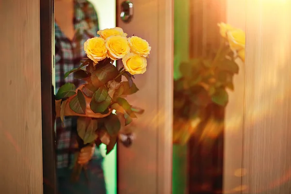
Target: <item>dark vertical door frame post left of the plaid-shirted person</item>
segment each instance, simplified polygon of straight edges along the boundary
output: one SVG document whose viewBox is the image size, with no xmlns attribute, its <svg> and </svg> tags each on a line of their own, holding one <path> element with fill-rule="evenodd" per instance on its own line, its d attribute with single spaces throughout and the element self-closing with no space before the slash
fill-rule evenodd
<svg viewBox="0 0 291 194">
<path fill-rule="evenodd" d="M 43 193 L 56 194 L 54 0 L 40 0 Z"/>
</svg>

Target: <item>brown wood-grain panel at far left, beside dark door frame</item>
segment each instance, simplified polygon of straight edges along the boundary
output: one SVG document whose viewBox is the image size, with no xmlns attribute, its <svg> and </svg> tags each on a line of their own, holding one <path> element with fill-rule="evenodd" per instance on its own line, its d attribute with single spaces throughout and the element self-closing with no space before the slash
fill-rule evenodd
<svg viewBox="0 0 291 194">
<path fill-rule="evenodd" d="M 42 194 L 39 0 L 0 1 L 0 188 Z"/>
</svg>

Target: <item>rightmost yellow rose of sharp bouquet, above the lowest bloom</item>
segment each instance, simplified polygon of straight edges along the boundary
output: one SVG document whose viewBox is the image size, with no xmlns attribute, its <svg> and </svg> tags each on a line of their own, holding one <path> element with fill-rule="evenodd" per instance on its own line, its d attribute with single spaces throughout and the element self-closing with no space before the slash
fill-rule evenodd
<svg viewBox="0 0 291 194">
<path fill-rule="evenodd" d="M 148 42 L 146 42 L 146 40 L 137 36 L 131 36 L 128 38 L 128 41 L 132 52 L 144 57 L 149 55 L 151 47 L 149 46 Z"/>
</svg>

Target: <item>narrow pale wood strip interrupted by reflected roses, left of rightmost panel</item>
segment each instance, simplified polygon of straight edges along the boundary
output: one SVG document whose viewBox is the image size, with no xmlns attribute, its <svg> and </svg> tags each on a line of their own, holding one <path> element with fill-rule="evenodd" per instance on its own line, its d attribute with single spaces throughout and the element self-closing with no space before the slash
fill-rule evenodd
<svg viewBox="0 0 291 194">
<path fill-rule="evenodd" d="M 226 23 L 245 31 L 245 0 L 226 0 Z M 224 134 L 224 193 L 240 193 L 242 183 L 242 136 L 244 63 L 238 59 L 239 74 L 233 78 L 234 91 L 227 91 L 228 104 Z"/>
</svg>

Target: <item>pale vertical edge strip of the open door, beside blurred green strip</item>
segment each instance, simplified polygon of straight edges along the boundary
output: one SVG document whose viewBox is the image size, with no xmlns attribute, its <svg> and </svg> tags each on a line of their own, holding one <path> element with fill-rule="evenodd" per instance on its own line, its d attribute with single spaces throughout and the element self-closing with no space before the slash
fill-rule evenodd
<svg viewBox="0 0 291 194">
<path fill-rule="evenodd" d="M 174 0 L 159 0 L 158 72 L 158 189 L 157 194 L 172 193 L 173 164 L 173 84 L 174 84 Z"/>
</svg>

